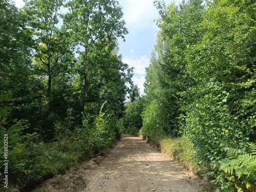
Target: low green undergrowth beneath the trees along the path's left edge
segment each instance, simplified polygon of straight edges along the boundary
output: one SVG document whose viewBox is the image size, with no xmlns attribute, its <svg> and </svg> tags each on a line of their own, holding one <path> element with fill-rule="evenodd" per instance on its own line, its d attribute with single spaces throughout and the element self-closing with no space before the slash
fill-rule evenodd
<svg viewBox="0 0 256 192">
<path fill-rule="evenodd" d="M 108 111 L 103 112 L 102 108 L 103 105 L 92 123 L 84 116 L 83 125 L 73 131 L 65 130 L 63 126 L 58 132 L 61 125 L 57 125 L 55 140 L 51 142 L 42 142 L 40 135 L 36 133 L 25 134 L 24 130 L 29 126 L 28 121 L 15 119 L 10 127 L 5 121 L 0 122 L 0 133 L 8 135 L 9 160 L 7 174 L 3 166 L 0 168 L 0 191 L 27 191 L 35 183 L 65 174 L 79 162 L 102 154 L 120 137 L 119 120 Z M 3 152 L 0 152 L 2 157 Z M 0 163 L 4 164 L 3 159 Z M 6 175 L 7 187 L 3 185 Z"/>
</svg>

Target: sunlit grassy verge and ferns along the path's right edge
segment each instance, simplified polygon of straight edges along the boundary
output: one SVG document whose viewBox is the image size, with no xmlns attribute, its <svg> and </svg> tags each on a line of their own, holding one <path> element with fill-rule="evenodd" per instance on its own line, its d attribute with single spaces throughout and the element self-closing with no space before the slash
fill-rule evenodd
<svg viewBox="0 0 256 192">
<path fill-rule="evenodd" d="M 201 172 L 210 171 L 201 167 L 195 162 L 195 150 L 193 144 L 186 137 L 169 138 L 162 137 L 150 142 L 160 147 L 161 151 L 169 157 L 177 160 L 186 169 L 192 170 L 200 176 Z M 214 165 L 217 177 L 209 177 L 210 191 L 238 191 L 251 192 L 256 190 L 256 144 L 247 143 L 245 151 L 238 149 L 227 149 L 226 158 Z M 214 189 L 215 188 L 215 189 Z"/>
</svg>

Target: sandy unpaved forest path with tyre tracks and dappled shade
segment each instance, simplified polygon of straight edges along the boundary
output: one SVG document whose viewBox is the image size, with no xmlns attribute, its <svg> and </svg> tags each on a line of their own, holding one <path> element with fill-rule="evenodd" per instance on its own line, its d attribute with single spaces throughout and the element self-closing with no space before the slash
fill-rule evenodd
<svg viewBox="0 0 256 192">
<path fill-rule="evenodd" d="M 75 174 L 75 175 L 74 175 Z M 144 192 L 203 191 L 196 177 L 145 140 L 122 135 L 106 157 L 82 164 L 77 172 L 50 179 L 34 191 Z"/>
</svg>

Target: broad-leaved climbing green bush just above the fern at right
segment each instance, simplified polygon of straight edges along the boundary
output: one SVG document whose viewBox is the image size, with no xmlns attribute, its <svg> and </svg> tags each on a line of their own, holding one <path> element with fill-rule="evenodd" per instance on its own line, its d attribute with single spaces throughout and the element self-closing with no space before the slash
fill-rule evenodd
<svg viewBox="0 0 256 192">
<path fill-rule="evenodd" d="M 218 84 L 212 84 L 211 93 L 187 108 L 184 132 L 194 143 L 196 161 L 208 169 L 226 157 L 229 147 L 244 150 L 249 139 L 240 118 L 243 112 L 232 114 L 227 103 L 229 93 L 221 89 Z"/>
</svg>

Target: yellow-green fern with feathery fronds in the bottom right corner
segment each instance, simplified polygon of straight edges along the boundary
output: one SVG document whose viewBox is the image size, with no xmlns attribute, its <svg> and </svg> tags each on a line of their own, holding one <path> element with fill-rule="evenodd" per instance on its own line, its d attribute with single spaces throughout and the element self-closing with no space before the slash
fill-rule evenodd
<svg viewBox="0 0 256 192">
<path fill-rule="evenodd" d="M 222 190 L 255 191 L 256 143 L 248 143 L 245 152 L 230 148 L 227 157 L 219 163 L 216 181 L 221 184 Z"/>
</svg>

